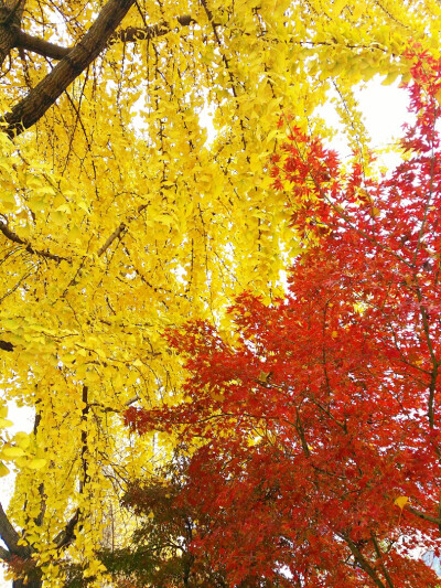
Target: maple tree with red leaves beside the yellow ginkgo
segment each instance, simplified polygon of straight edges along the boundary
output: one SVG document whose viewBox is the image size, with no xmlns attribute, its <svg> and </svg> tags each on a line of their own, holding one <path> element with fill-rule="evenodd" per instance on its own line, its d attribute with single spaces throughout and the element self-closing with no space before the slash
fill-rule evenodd
<svg viewBox="0 0 441 588">
<path fill-rule="evenodd" d="M 191 402 L 127 413 L 193 443 L 181 492 L 209 525 L 192 549 L 227 586 L 440 582 L 418 549 L 441 537 L 441 65 L 413 61 L 402 163 L 347 172 L 291 128 L 272 175 L 309 243 L 289 293 L 241 295 L 229 342 L 202 321 L 169 333 Z"/>
</svg>

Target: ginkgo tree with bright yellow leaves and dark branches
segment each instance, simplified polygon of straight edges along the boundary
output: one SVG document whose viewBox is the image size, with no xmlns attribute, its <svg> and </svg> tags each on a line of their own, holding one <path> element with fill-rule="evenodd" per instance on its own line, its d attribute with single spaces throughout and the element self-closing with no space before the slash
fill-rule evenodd
<svg viewBox="0 0 441 588">
<path fill-rule="evenodd" d="M 35 415 L 0 455 L 17 587 L 63 586 L 67 562 L 101 581 L 121 493 L 169 451 L 121 418 L 181 394 L 163 330 L 281 292 L 281 113 L 323 128 L 332 89 L 368 165 L 353 86 L 408 76 L 410 40 L 437 56 L 440 21 L 434 0 L 0 3 L 1 389 Z"/>
</svg>

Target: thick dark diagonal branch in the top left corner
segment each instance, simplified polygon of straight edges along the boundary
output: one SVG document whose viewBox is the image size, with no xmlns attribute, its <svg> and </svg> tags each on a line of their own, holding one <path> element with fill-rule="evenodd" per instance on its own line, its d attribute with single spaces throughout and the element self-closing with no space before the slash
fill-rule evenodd
<svg viewBox="0 0 441 588">
<path fill-rule="evenodd" d="M 84 72 L 107 45 L 115 29 L 130 10 L 135 0 L 109 0 L 97 20 L 75 47 L 3 116 L 4 131 L 13 138 L 34 125 L 63 92 Z"/>
</svg>

